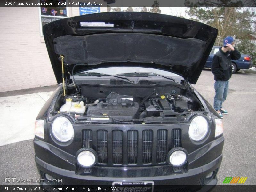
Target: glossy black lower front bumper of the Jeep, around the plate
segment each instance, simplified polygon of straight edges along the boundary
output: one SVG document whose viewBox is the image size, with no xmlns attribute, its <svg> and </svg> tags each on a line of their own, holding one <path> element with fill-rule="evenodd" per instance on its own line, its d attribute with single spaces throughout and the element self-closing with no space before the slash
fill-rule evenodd
<svg viewBox="0 0 256 192">
<path fill-rule="evenodd" d="M 214 159 L 212 162 L 205 164 L 201 167 L 190 169 L 188 172 L 180 172 L 178 174 L 168 176 L 155 176 L 155 177 L 95 177 L 86 175 L 76 175 L 73 171 L 60 169 L 52 166 L 36 157 L 36 166 L 41 176 L 49 174 L 56 179 L 61 179 L 62 183 L 59 185 L 84 185 L 84 186 L 112 186 L 113 181 L 154 181 L 154 191 L 162 191 L 166 188 L 182 189 L 184 191 L 208 191 L 217 184 L 216 174 L 220 167 L 222 155 Z M 113 171 L 113 168 L 110 168 Z M 115 169 L 115 168 L 114 168 Z M 136 168 L 136 172 L 142 172 L 145 168 Z M 150 168 L 155 172 L 162 167 Z M 127 170 L 128 171 L 128 170 Z M 204 184 L 203 180 L 207 174 L 214 172 L 212 179 Z M 124 174 L 127 172 L 124 172 Z M 43 187 L 49 187 L 51 184 L 45 182 L 40 183 Z"/>
</svg>

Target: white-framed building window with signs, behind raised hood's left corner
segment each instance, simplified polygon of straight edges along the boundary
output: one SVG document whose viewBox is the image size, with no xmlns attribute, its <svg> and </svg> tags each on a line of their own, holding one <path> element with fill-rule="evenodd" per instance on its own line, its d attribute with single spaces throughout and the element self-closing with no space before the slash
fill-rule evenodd
<svg viewBox="0 0 256 192">
<path fill-rule="evenodd" d="M 48 0 L 40 0 L 41 3 L 44 4 L 44 2 L 47 2 Z M 51 2 L 54 1 L 55 5 L 58 5 L 58 2 L 61 2 L 65 4 L 68 2 L 68 0 L 51 0 Z M 41 36 L 43 36 L 43 25 L 46 23 L 50 23 L 52 21 L 56 21 L 59 19 L 63 19 L 68 17 L 68 9 L 66 5 L 60 5 L 56 7 L 44 7 L 44 5 L 41 5 L 39 7 L 39 19 L 40 19 L 40 33 Z"/>
</svg>

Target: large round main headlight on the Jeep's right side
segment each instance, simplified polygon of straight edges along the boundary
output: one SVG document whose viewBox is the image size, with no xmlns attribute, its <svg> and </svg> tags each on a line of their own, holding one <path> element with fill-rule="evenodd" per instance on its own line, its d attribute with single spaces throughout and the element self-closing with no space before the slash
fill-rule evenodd
<svg viewBox="0 0 256 192">
<path fill-rule="evenodd" d="M 195 117 L 189 126 L 188 135 L 194 141 L 200 141 L 205 138 L 208 132 L 208 122 L 203 116 Z"/>
</svg>

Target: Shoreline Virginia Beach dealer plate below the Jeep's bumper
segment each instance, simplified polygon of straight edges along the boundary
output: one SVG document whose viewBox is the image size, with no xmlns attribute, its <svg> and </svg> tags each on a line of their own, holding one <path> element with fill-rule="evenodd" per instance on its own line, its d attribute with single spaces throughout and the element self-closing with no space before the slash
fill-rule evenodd
<svg viewBox="0 0 256 192">
<path fill-rule="evenodd" d="M 153 192 L 154 181 L 114 181 L 113 192 Z"/>
</svg>

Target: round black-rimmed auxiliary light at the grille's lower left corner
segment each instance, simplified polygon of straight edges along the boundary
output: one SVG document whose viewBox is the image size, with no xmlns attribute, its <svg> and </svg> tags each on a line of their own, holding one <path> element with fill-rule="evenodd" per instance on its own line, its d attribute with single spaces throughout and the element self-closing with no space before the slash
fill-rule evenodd
<svg viewBox="0 0 256 192">
<path fill-rule="evenodd" d="M 77 151 L 77 163 L 84 168 L 92 167 L 97 162 L 97 154 L 91 148 L 81 148 Z"/>
</svg>

